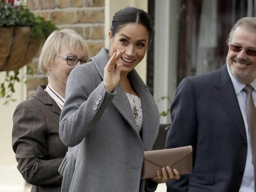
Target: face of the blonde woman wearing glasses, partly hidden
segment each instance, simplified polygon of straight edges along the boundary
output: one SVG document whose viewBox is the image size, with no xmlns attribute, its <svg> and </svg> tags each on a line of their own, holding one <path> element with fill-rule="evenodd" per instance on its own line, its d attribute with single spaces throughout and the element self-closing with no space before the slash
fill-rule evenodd
<svg viewBox="0 0 256 192">
<path fill-rule="evenodd" d="M 85 57 L 88 58 L 88 55 L 85 55 L 82 49 L 78 47 L 74 48 L 74 50 L 69 51 L 61 50 L 58 55 L 76 56 L 80 59 Z M 49 83 L 57 92 L 61 94 L 61 96 L 64 93 L 63 98 L 65 98 L 65 90 L 69 74 L 71 70 L 78 65 L 81 65 L 80 62 L 78 62 L 74 66 L 70 66 L 67 64 L 66 59 L 57 56 L 54 57 L 52 65 L 50 65 Z"/>
</svg>

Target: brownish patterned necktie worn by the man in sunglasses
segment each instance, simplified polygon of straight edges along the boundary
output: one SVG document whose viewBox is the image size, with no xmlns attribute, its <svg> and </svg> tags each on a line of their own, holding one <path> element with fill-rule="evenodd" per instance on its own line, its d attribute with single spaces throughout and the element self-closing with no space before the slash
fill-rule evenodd
<svg viewBox="0 0 256 192">
<path fill-rule="evenodd" d="M 254 191 L 256 192 L 256 107 L 252 98 L 252 85 L 246 85 L 243 88 L 243 91 L 246 92 L 246 116 L 252 144 L 252 162 L 254 164 Z"/>
</svg>

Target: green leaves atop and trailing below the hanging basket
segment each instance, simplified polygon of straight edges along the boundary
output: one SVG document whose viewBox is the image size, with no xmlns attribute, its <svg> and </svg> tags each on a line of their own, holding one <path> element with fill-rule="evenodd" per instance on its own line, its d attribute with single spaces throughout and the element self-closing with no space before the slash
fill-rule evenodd
<svg viewBox="0 0 256 192">
<path fill-rule="evenodd" d="M 29 26 L 33 37 L 40 37 L 45 41 L 47 37 L 58 28 L 50 21 L 45 21 L 43 17 L 35 17 L 26 6 L 13 6 L 8 3 L 0 2 L 0 27 L 9 26 Z M 4 82 L 0 84 L 0 98 L 5 98 L 4 104 L 8 104 L 12 99 L 12 94 L 15 92 L 15 82 L 20 82 L 18 78 L 19 70 L 6 72 Z M 33 75 L 33 69 L 27 66 L 26 75 Z M 22 77 L 22 82 L 26 83 L 25 76 Z"/>
</svg>

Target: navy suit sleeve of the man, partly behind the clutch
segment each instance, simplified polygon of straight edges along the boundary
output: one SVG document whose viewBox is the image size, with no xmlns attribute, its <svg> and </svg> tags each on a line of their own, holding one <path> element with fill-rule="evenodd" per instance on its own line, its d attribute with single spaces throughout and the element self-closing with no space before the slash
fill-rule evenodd
<svg viewBox="0 0 256 192">
<path fill-rule="evenodd" d="M 172 125 L 167 133 L 165 148 L 191 145 L 193 151 L 196 151 L 197 110 L 193 86 L 188 78 L 182 80 L 176 91 L 171 105 L 171 119 Z M 195 153 L 193 153 L 194 159 Z M 166 183 L 167 192 L 186 192 L 188 184 L 189 175 L 181 175 L 179 180 L 172 179 Z"/>
</svg>

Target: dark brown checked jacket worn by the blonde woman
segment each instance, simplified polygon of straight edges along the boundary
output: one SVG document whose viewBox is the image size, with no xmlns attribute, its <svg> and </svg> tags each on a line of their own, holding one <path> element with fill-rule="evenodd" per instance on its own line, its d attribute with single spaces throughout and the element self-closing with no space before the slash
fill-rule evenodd
<svg viewBox="0 0 256 192">
<path fill-rule="evenodd" d="M 59 138 L 61 109 L 39 86 L 32 98 L 21 102 L 13 114 L 13 151 L 18 170 L 32 184 L 32 192 L 60 191 L 59 165 L 67 146 Z"/>
</svg>

